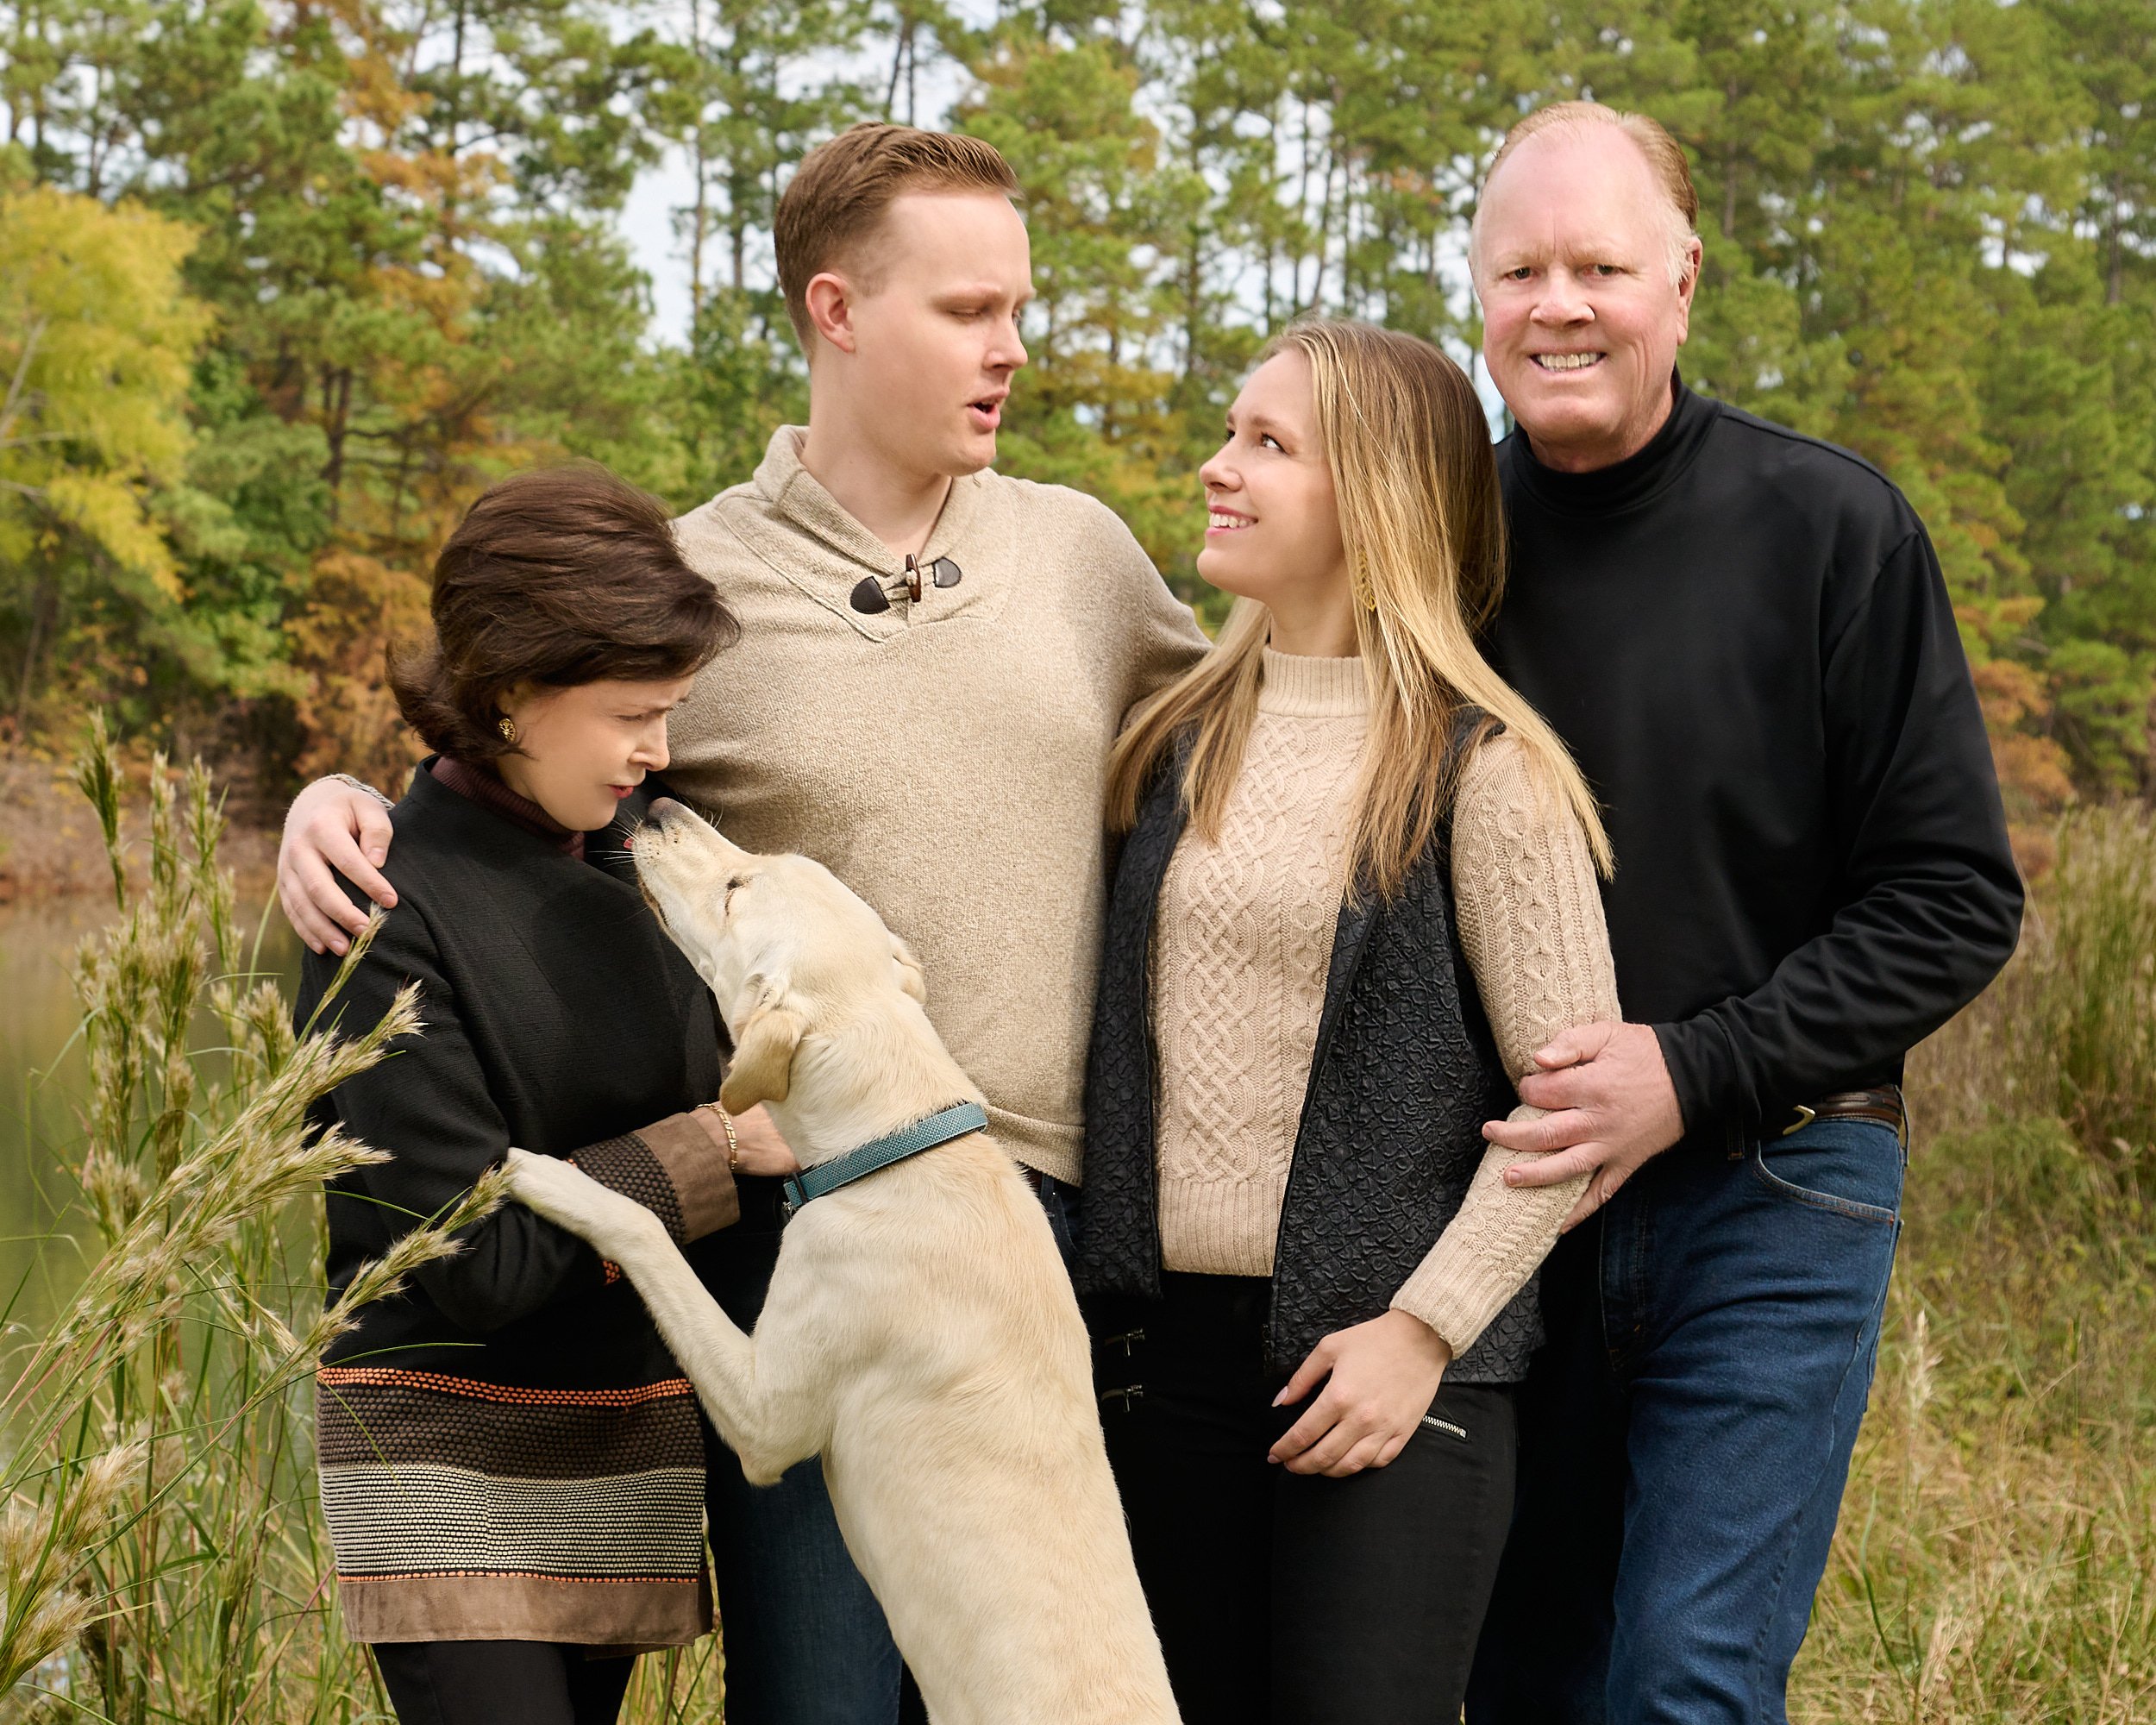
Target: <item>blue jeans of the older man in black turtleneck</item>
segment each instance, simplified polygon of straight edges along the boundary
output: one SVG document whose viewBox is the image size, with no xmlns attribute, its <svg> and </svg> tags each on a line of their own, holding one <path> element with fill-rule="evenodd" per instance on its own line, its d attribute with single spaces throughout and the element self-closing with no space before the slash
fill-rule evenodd
<svg viewBox="0 0 2156 1725">
<path fill-rule="evenodd" d="M 1468 1725 L 1785 1725 L 1904 1160 L 1856 1119 L 1671 1151 L 1559 1242 Z"/>
</svg>

